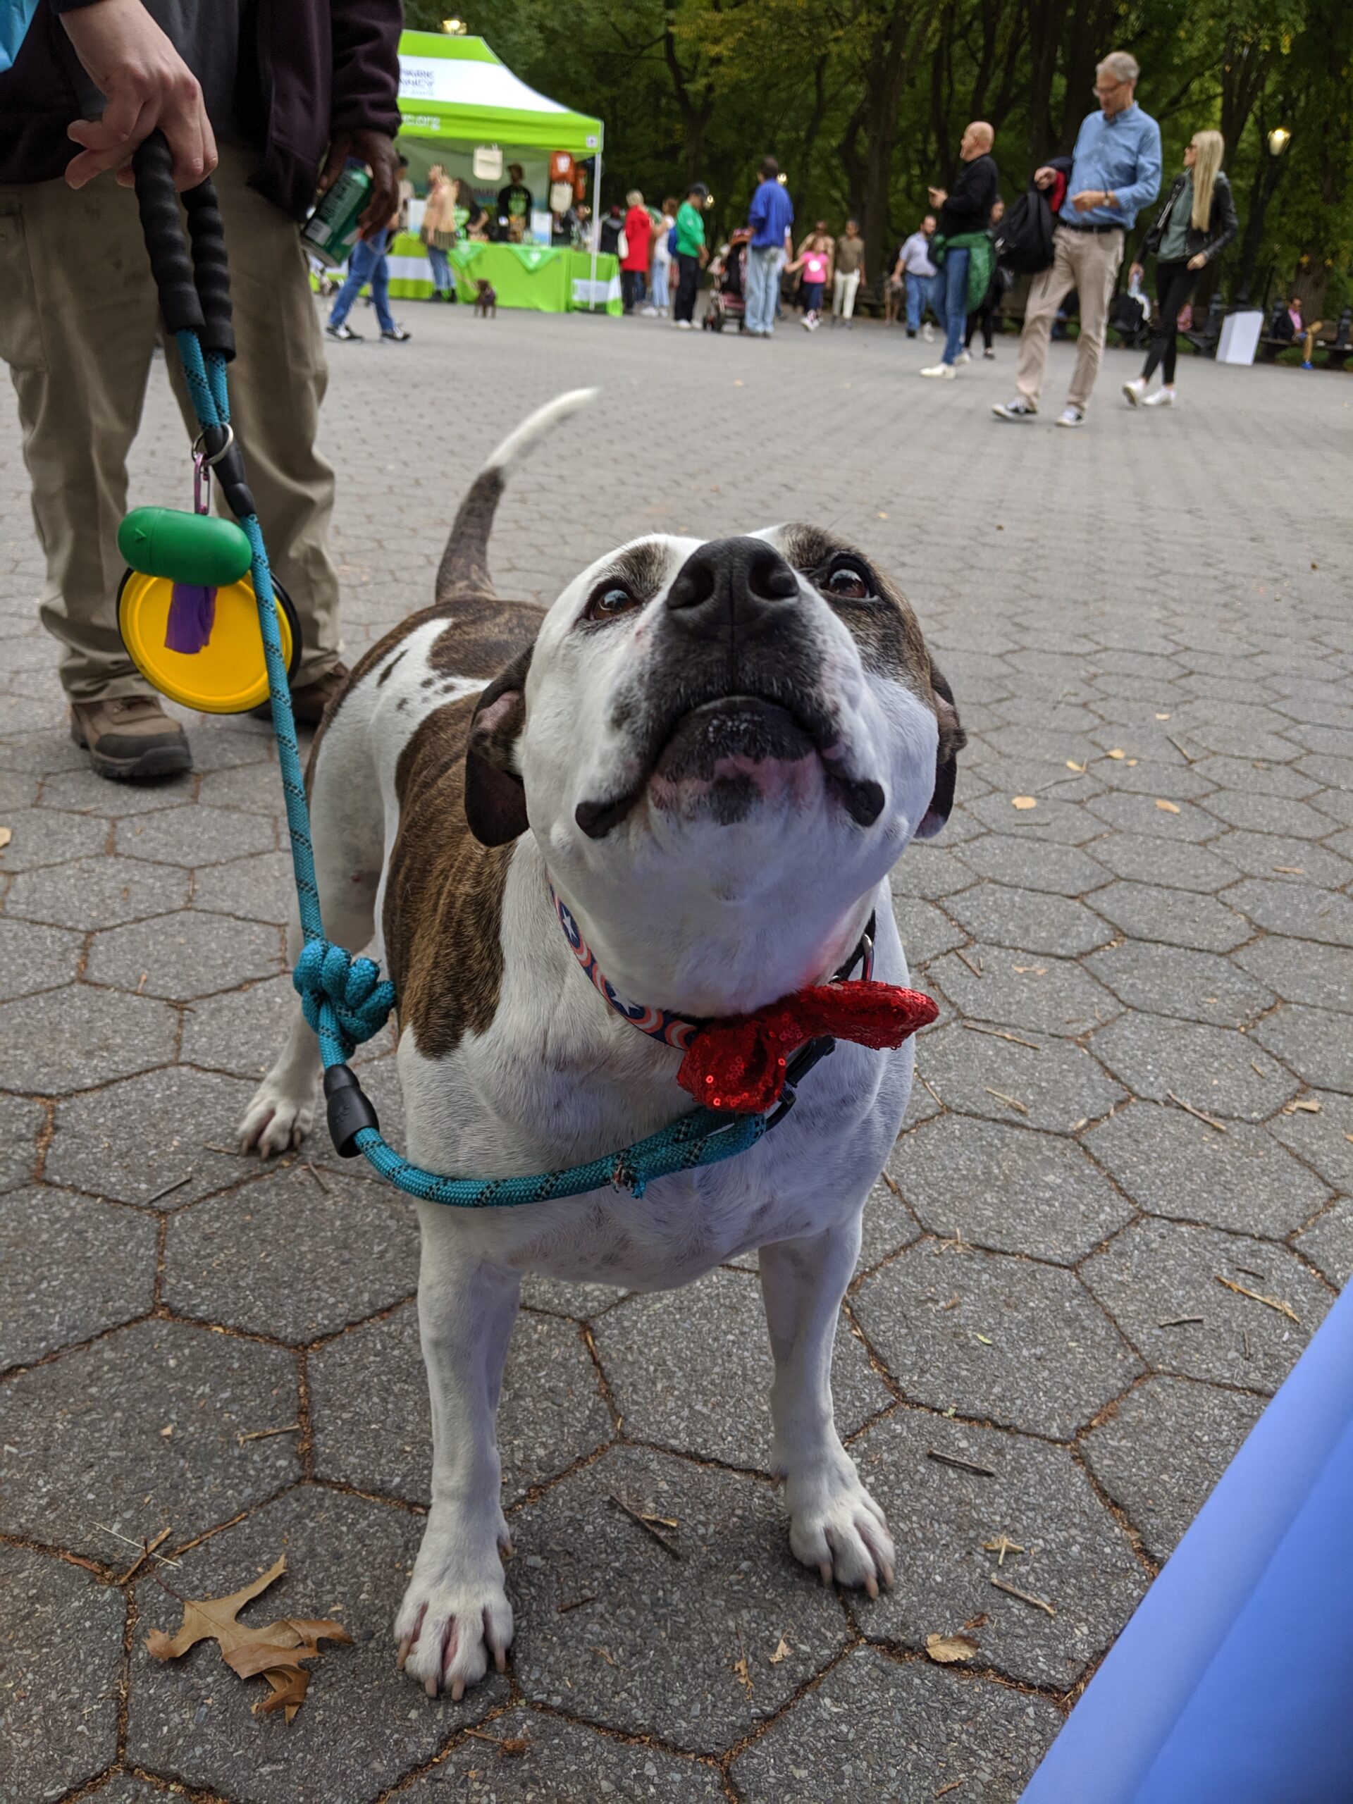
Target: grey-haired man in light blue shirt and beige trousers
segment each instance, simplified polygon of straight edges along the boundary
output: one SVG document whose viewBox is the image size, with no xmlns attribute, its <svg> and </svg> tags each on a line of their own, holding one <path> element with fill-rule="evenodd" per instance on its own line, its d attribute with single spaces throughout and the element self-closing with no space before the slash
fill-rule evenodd
<svg viewBox="0 0 1353 1804">
<path fill-rule="evenodd" d="M 1057 426 L 1084 426 L 1090 393 L 1104 354 L 1104 327 L 1122 263 L 1122 245 L 1138 211 L 1160 193 L 1160 126 L 1137 105 L 1137 58 L 1113 51 L 1095 70 L 1099 112 L 1081 124 L 1075 152 L 1061 166 L 1034 171 L 1039 188 L 1066 177 L 1052 235 L 1052 269 L 1034 278 L 1019 334 L 1014 400 L 992 408 L 1001 420 L 1032 420 L 1039 410 L 1048 336 L 1057 308 L 1075 289 L 1081 337 L 1075 373 Z"/>
</svg>

